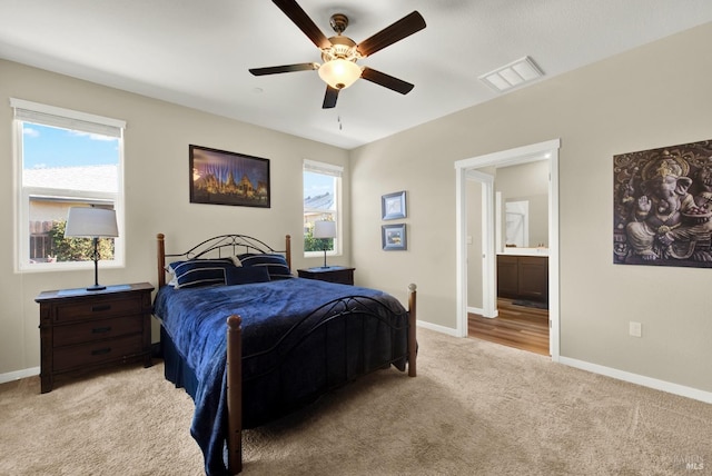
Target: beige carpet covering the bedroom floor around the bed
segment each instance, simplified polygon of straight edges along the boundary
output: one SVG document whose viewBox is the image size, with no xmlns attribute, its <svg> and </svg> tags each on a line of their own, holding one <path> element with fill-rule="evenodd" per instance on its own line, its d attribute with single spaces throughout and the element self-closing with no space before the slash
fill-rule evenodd
<svg viewBox="0 0 712 476">
<path fill-rule="evenodd" d="M 712 474 L 712 405 L 419 330 L 379 371 L 245 436 L 245 475 Z M 200 475 L 192 403 L 162 365 L 39 393 L 0 386 L 0 475 Z"/>
</svg>

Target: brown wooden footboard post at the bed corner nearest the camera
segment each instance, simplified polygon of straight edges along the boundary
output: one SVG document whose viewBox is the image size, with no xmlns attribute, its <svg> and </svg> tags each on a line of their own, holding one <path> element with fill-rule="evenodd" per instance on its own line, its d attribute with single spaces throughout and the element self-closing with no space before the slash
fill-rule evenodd
<svg viewBox="0 0 712 476">
<path fill-rule="evenodd" d="M 227 414 L 228 470 L 243 470 L 243 319 L 227 319 Z"/>
</svg>

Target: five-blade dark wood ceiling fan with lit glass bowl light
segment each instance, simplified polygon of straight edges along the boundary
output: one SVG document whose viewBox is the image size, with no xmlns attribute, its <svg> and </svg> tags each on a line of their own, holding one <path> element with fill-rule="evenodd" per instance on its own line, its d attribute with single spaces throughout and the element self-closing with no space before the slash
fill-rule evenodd
<svg viewBox="0 0 712 476">
<path fill-rule="evenodd" d="M 268 68 L 251 68 L 249 72 L 253 75 L 265 76 L 316 70 L 327 85 L 324 103 L 322 105 L 324 109 L 334 108 L 338 99 L 338 92 L 352 86 L 358 78 L 375 82 L 402 95 L 407 95 L 414 88 L 414 85 L 385 72 L 376 71 L 366 66 L 359 67 L 356 61 L 424 29 L 425 20 L 417 11 L 403 17 L 360 43 L 356 43 L 350 38 L 342 34 L 348 26 L 348 18 L 343 13 L 332 16 L 330 24 L 336 36 L 326 38 L 295 0 L 273 0 L 273 2 L 316 44 L 322 51 L 324 63 L 304 62 Z"/>
</svg>

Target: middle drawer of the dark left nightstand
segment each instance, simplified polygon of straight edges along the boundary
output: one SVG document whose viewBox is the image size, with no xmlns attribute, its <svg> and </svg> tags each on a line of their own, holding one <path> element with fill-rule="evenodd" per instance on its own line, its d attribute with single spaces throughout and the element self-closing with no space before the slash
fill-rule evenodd
<svg viewBox="0 0 712 476">
<path fill-rule="evenodd" d="M 55 327 L 52 345 L 61 347 L 71 344 L 91 343 L 129 334 L 141 334 L 142 330 L 144 316 L 141 315 L 115 317 L 113 319 L 92 319 Z"/>
</svg>

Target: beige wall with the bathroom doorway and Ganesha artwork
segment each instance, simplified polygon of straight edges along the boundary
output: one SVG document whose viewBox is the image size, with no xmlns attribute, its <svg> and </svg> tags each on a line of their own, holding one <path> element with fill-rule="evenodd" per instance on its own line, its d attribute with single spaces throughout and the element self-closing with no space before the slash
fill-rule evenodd
<svg viewBox="0 0 712 476">
<path fill-rule="evenodd" d="M 712 139 L 711 43 L 708 23 L 354 150 L 360 282 L 414 281 L 418 318 L 455 328 L 454 162 L 561 138 L 561 355 L 712 391 L 712 271 L 614 266 L 612 252 L 613 155 Z M 404 188 L 408 251 L 383 252 L 379 196 Z"/>
</svg>

